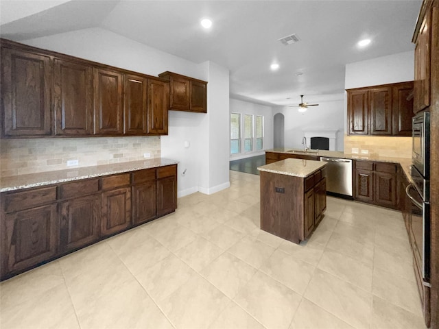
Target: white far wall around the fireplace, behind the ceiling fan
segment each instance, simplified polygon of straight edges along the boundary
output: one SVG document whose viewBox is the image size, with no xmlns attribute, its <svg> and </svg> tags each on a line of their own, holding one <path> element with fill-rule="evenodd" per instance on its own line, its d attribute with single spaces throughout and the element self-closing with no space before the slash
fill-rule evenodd
<svg viewBox="0 0 439 329">
<path fill-rule="evenodd" d="M 285 116 L 285 147 L 302 149 L 304 129 L 333 129 L 338 130 L 335 149 L 343 151 L 344 143 L 344 100 L 320 101 L 319 106 L 312 106 L 306 112 L 297 108 L 284 107 L 275 111 Z"/>
</svg>

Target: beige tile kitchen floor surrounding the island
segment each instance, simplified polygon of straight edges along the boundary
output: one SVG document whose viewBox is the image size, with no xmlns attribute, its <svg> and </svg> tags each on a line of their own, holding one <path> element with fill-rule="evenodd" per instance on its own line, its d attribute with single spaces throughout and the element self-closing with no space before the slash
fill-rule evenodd
<svg viewBox="0 0 439 329">
<path fill-rule="evenodd" d="M 0 284 L 1 328 L 425 328 L 400 212 L 327 198 L 309 241 L 259 230 L 259 176 Z"/>
</svg>

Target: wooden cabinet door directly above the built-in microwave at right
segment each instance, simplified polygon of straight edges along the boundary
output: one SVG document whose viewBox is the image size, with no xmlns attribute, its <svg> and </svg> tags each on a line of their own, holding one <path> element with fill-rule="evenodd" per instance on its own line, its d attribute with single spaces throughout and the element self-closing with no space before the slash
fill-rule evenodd
<svg viewBox="0 0 439 329">
<path fill-rule="evenodd" d="M 430 106 L 431 9 L 419 29 L 414 51 L 414 112 Z"/>
</svg>

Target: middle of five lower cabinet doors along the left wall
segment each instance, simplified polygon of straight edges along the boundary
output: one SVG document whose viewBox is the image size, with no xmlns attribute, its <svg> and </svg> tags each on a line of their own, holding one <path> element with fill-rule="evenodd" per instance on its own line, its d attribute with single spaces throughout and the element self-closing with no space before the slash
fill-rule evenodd
<svg viewBox="0 0 439 329">
<path fill-rule="evenodd" d="M 131 223 L 130 188 L 102 193 L 102 235 L 115 234 L 128 228 Z"/>
</svg>

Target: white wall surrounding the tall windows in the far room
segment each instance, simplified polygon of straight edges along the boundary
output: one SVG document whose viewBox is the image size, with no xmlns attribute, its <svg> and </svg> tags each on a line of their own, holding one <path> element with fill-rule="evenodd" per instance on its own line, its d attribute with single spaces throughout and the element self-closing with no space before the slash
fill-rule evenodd
<svg viewBox="0 0 439 329">
<path fill-rule="evenodd" d="M 244 114 L 262 115 L 264 117 L 264 135 L 263 135 L 263 149 L 273 148 L 273 109 L 270 106 L 264 106 L 257 103 L 250 103 L 249 101 L 241 101 L 240 99 L 230 98 L 230 112 L 237 112 Z M 241 120 L 243 122 L 244 120 Z M 230 154 L 230 116 L 228 118 L 228 154 Z M 241 132 L 244 132 L 244 123 L 241 123 Z M 244 149 L 244 145 L 241 145 L 241 150 Z M 265 151 L 252 151 L 241 154 L 233 154 L 230 156 L 230 160 L 238 160 L 242 158 L 248 158 L 250 156 L 256 156 L 259 154 L 265 154 Z"/>
</svg>

